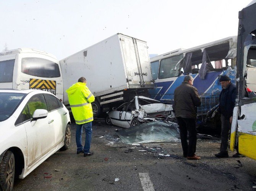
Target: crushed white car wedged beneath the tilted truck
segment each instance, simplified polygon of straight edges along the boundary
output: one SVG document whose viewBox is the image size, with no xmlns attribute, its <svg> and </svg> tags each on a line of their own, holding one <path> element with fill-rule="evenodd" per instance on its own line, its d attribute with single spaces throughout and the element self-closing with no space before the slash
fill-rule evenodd
<svg viewBox="0 0 256 191">
<path fill-rule="evenodd" d="M 118 108 L 113 108 L 107 113 L 105 122 L 108 125 L 120 127 L 133 127 L 147 119 L 163 118 L 169 116 L 172 105 L 161 103 L 157 100 L 134 96 L 130 102 L 123 103 Z"/>
</svg>

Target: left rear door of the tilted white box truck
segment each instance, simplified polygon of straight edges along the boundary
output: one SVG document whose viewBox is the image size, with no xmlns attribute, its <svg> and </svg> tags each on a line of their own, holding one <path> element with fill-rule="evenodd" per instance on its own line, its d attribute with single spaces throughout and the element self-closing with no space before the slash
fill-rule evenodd
<svg viewBox="0 0 256 191">
<path fill-rule="evenodd" d="M 141 85 L 141 70 L 134 38 L 120 35 L 123 59 L 125 62 L 126 74 L 129 85 Z"/>
</svg>

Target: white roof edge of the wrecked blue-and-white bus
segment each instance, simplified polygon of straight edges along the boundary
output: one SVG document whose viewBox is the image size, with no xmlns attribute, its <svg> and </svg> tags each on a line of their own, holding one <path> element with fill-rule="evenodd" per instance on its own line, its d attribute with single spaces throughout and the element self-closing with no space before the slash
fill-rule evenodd
<svg viewBox="0 0 256 191">
<path fill-rule="evenodd" d="M 202 52 L 203 52 L 204 48 L 214 46 L 214 45 L 218 45 L 218 44 L 222 44 L 222 43 L 225 43 L 225 42 L 229 42 L 230 49 L 237 48 L 237 36 L 232 36 L 232 37 L 227 37 L 227 38 L 223 38 L 223 39 L 220 39 L 220 40 L 212 41 L 210 43 L 206 43 L 206 44 L 203 44 L 203 45 L 195 46 L 193 48 L 188 48 L 188 49 L 181 49 L 180 48 L 180 49 L 177 49 L 177 50 L 174 50 L 174 51 L 170 51 L 168 53 L 164 53 L 164 54 L 161 54 L 159 56 L 152 57 L 150 59 L 150 62 L 154 62 L 154 61 L 157 61 L 157 60 L 160 60 L 160 59 L 164 59 L 164 58 L 175 56 L 175 55 L 182 54 L 182 53 L 188 53 L 188 52 L 195 51 L 195 50 L 198 50 L 198 49 L 201 49 Z"/>
</svg>

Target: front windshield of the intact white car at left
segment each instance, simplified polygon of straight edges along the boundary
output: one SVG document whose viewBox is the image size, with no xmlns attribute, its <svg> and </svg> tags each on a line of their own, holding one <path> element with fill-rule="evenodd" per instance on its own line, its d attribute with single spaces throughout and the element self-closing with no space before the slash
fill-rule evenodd
<svg viewBox="0 0 256 191">
<path fill-rule="evenodd" d="M 0 121 L 9 118 L 26 94 L 0 92 Z"/>
</svg>

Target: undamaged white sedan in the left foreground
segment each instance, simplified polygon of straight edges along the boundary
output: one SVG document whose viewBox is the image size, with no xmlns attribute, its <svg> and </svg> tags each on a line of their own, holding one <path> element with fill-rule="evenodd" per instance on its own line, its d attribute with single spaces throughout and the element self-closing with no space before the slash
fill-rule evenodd
<svg viewBox="0 0 256 191">
<path fill-rule="evenodd" d="M 12 190 L 53 153 L 70 145 L 70 116 L 53 94 L 0 90 L 0 190 Z"/>
</svg>

